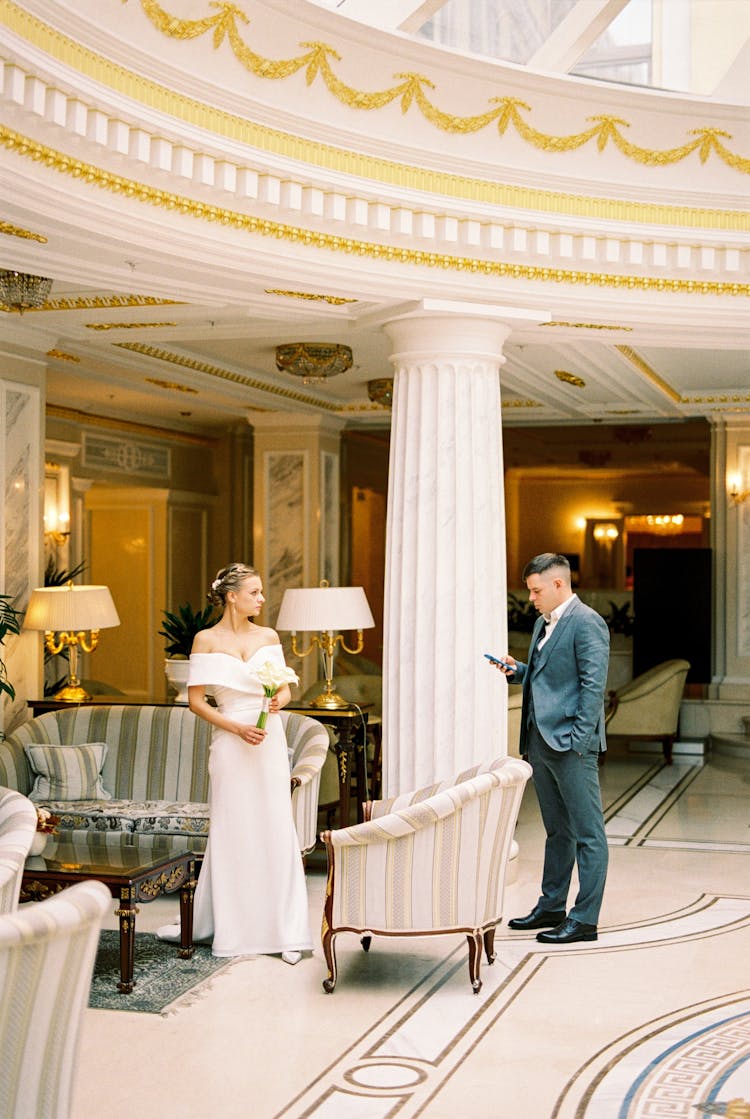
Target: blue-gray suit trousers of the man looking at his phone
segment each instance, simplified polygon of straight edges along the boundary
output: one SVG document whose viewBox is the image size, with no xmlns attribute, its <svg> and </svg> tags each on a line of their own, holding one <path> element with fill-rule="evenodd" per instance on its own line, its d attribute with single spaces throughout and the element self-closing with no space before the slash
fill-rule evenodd
<svg viewBox="0 0 750 1119">
<path fill-rule="evenodd" d="M 547 911 L 566 911 L 576 866 L 579 892 L 568 915 L 583 924 L 598 924 L 609 862 L 599 758 L 596 753 L 552 750 L 540 734 L 533 714 L 526 747 L 547 837 L 537 904 Z"/>
</svg>

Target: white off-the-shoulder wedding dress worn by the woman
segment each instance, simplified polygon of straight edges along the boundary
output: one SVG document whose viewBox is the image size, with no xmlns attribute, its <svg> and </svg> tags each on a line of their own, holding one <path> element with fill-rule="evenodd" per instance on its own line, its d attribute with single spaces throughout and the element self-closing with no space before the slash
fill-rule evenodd
<svg viewBox="0 0 750 1119">
<path fill-rule="evenodd" d="M 256 674 L 269 660 L 284 664 L 280 645 L 263 646 L 249 661 L 225 652 L 194 652 L 188 684 L 205 685 L 222 714 L 237 723 L 256 723 L 263 699 Z M 312 948 L 287 736 L 279 715 L 270 714 L 265 728 L 260 746 L 228 731 L 213 731 L 210 826 L 195 894 L 193 939 L 213 940 L 214 956 Z M 175 939 L 175 927 L 158 934 Z"/>
</svg>

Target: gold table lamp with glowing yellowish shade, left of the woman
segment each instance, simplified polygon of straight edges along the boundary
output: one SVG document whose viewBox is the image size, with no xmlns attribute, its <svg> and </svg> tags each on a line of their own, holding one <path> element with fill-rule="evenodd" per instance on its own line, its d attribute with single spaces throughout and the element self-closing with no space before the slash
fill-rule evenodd
<svg viewBox="0 0 750 1119">
<path fill-rule="evenodd" d="M 45 645 L 57 656 L 69 650 L 69 678 L 54 696 L 66 703 L 91 699 L 78 679 L 78 649 L 93 652 L 99 645 L 99 631 L 120 624 L 109 586 L 39 586 L 31 598 L 24 619 L 24 629 L 44 630 Z M 88 632 L 88 637 L 86 637 Z"/>
</svg>

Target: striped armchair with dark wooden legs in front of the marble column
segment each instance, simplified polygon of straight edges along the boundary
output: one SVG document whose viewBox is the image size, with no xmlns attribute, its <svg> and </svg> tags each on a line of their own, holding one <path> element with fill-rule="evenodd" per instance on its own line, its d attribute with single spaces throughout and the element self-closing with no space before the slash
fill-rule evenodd
<svg viewBox="0 0 750 1119">
<path fill-rule="evenodd" d="M 336 986 L 339 932 L 424 937 L 465 933 L 469 978 L 481 988 L 482 944 L 495 959 L 505 875 L 531 767 L 516 758 L 476 765 L 453 782 L 371 806 L 364 824 L 324 831 L 328 885 L 324 989 Z"/>
</svg>

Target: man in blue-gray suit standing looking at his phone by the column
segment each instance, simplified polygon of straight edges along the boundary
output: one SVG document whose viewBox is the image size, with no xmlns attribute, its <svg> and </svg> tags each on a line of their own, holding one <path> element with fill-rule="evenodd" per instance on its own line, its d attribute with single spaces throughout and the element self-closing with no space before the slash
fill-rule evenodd
<svg viewBox="0 0 750 1119">
<path fill-rule="evenodd" d="M 609 630 L 571 589 L 565 556 L 545 552 L 524 568 L 540 612 L 528 664 L 504 657 L 499 668 L 523 684 L 521 753 L 531 763 L 546 831 L 542 894 L 510 929 L 542 929 L 547 944 L 596 940 L 607 880 L 607 836 L 599 789 L 604 739 Z M 568 912 L 573 866 L 579 892 Z"/>
</svg>

